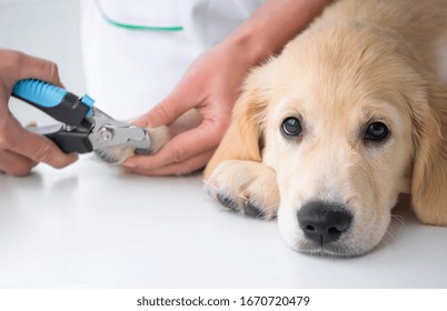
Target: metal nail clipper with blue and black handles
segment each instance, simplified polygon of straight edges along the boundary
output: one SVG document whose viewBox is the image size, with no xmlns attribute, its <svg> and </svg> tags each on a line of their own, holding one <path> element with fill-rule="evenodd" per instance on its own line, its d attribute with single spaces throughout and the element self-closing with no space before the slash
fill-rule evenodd
<svg viewBox="0 0 447 311">
<path fill-rule="evenodd" d="M 101 157 L 116 147 L 131 147 L 136 153 L 150 152 L 151 140 L 146 129 L 107 116 L 88 94 L 78 97 L 48 82 L 26 79 L 17 82 L 12 96 L 61 122 L 31 130 L 51 139 L 66 153 L 96 151 Z"/>
</svg>

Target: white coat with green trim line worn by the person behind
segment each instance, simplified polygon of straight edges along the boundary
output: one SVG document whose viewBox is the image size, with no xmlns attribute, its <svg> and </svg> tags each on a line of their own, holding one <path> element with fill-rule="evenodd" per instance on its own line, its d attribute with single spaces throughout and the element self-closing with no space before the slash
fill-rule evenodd
<svg viewBox="0 0 447 311">
<path fill-rule="evenodd" d="M 98 7 L 98 2 L 101 9 Z M 148 111 L 188 66 L 225 39 L 264 0 L 82 0 L 81 44 L 88 92 L 117 119 Z M 109 23 L 183 27 L 130 30 Z"/>
</svg>

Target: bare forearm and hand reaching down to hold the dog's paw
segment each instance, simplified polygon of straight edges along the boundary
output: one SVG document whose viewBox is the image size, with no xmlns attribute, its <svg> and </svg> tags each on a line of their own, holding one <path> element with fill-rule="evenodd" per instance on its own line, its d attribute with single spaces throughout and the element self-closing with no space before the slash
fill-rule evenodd
<svg viewBox="0 0 447 311">
<path fill-rule="evenodd" d="M 225 41 L 199 57 L 177 88 L 136 121 L 141 127 L 177 127 L 173 121 L 195 108 L 202 117 L 201 123 L 182 124 L 183 130 L 180 127 L 180 133 L 153 156 L 129 158 L 123 162 L 127 171 L 185 174 L 203 167 L 229 126 L 249 69 L 280 52 L 329 2 L 267 0 Z"/>
</svg>

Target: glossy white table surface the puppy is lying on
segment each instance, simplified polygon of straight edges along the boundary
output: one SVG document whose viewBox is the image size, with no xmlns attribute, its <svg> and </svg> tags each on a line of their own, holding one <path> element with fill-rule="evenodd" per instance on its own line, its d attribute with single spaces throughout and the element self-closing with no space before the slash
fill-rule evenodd
<svg viewBox="0 0 447 311">
<path fill-rule="evenodd" d="M 85 156 L 1 175 L 0 189 L 0 287 L 447 287 L 447 229 L 405 211 L 379 249 L 341 260 L 296 253 L 275 221 L 220 209 L 199 174 L 128 175 Z"/>
</svg>

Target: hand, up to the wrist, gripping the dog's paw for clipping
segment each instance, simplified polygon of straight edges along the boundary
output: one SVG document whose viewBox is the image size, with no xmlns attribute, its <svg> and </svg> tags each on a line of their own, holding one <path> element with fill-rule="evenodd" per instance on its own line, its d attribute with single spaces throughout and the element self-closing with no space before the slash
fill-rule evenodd
<svg viewBox="0 0 447 311">
<path fill-rule="evenodd" d="M 177 88 L 135 121 L 146 128 L 169 124 L 175 137 L 152 156 L 135 156 L 125 161 L 126 170 L 166 175 L 202 168 L 229 126 L 239 88 L 252 64 L 250 53 L 234 41 L 224 41 L 199 57 Z M 178 119 L 192 108 L 201 116 L 200 120 Z"/>
</svg>

